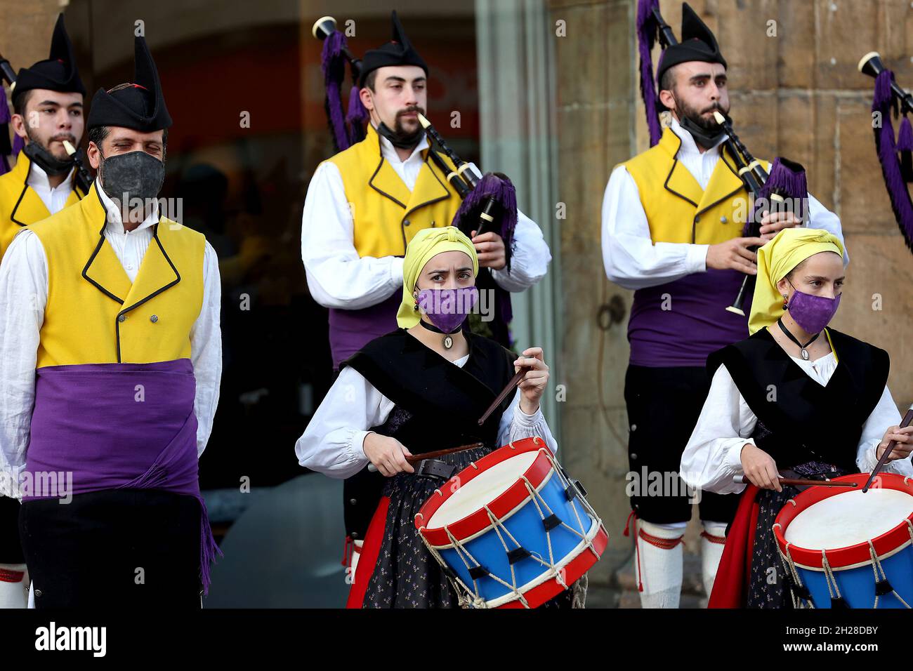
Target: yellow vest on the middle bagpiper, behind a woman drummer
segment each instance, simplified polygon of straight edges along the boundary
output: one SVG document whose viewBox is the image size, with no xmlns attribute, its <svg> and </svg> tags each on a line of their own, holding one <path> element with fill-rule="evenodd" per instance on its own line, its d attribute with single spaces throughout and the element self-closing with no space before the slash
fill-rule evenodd
<svg viewBox="0 0 913 671">
<path fill-rule="evenodd" d="M 453 222 L 460 198 L 446 174 L 430 163 L 430 151 L 422 152 L 425 163 L 412 192 L 384 161 L 380 136 L 370 123 L 362 142 L 327 159 L 340 169 L 360 257 L 404 257 L 405 246 L 420 230 Z M 446 156 L 438 155 L 454 169 Z"/>
</svg>

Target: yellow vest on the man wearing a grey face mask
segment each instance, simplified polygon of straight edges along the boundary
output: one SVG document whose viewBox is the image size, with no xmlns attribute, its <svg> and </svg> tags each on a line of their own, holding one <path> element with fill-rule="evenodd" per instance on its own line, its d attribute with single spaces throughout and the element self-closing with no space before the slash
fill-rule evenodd
<svg viewBox="0 0 913 671">
<path fill-rule="evenodd" d="M 29 226 L 47 255 L 37 368 L 190 358 L 203 307 L 205 237 L 163 217 L 131 283 L 101 235 L 106 218 L 93 183 L 78 206 Z"/>
</svg>

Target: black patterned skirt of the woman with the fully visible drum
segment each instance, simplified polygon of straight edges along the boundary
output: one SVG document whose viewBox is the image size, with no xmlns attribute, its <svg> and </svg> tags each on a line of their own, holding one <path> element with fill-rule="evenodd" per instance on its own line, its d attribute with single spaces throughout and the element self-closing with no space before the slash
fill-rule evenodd
<svg viewBox="0 0 913 671">
<path fill-rule="evenodd" d="M 491 451 L 479 447 L 442 456 L 440 460 L 455 465 L 458 471 Z M 387 481 L 383 496 L 389 498 L 389 507 L 383 538 L 362 608 L 459 607 L 456 590 L 415 529 L 415 515 L 440 484 L 440 480 L 411 473 L 400 473 Z M 365 546 L 373 542 L 372 531 L 369 530 Z M 565 590 L 540 607 L 570 608 L 572 597 L 573 591 Z"/>
</svg>

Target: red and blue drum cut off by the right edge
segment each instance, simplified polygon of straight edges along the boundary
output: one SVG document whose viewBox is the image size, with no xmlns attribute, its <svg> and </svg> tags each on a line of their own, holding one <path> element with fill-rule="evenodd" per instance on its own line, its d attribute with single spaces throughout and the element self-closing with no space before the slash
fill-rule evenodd
<svg viewBox="0 0 913 671">
<path fill-rule="evenodd" d="M 834 478 L 855 489 L 805 489 L 777 515 L 773 533 L 797 605 L 913 605 L 913 480 L 881 473 L 864 494 L 867 478 Z"/>
</svg>

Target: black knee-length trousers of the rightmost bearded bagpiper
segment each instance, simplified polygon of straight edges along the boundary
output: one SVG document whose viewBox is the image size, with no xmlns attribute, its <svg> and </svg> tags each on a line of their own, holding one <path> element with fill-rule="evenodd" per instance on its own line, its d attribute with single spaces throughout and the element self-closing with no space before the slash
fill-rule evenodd
<svg viewBox="0 0 913 671">
<path fill-rule="evenodd" d="M 702 366 L 628 366 L 624 375 L 628 464 L 638 485 L 631 497 L 638 518 L 654 524 L 691 519 L 689 494 L 695 492 L 689 492 L 677 474 L 709 389 L 707 370 Z M 651 482 L 662 485 L 651 489 Z M 735 494 L 699 492 L 699 497 L 700 519 L 709 522 L 729 524 L 739 506 Z"/>
</svg>

